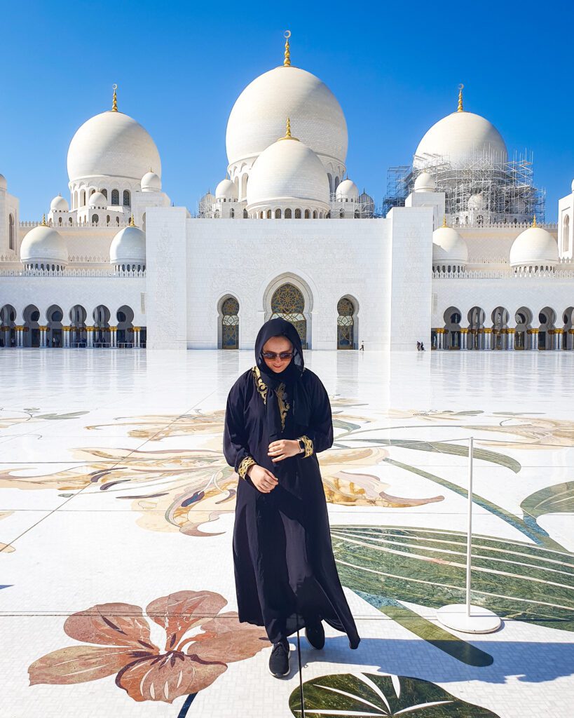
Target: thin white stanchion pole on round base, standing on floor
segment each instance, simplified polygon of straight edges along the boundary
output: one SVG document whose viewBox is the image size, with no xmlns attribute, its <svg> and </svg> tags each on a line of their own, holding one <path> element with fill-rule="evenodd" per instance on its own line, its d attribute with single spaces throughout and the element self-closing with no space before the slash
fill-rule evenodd
<svg viewBox="0 0 574 718">
<path fill-rule="evenodd" d="M 436 612 L 439 623 L 462 633 L 492 633 L 502 621 L 492 611 L 471 605 L 472 574 L 472 467 L 474 438 L 469 439 L 469 488 L 466 521 L 466 602 L 443 606 Z"/>
</svg>

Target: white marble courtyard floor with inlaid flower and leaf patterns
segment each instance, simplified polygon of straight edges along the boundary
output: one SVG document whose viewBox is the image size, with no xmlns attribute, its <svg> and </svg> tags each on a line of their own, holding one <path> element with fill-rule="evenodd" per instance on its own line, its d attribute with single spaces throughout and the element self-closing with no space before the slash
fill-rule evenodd
<svg viewBox="0 0 574 718">
<path fill-rule="evenodd" d="M 296 637 L 273 679 L 239 624 L 225 399 L 251 352 L 0 350 L 2 718 L 570 715 L 571 353 L 309 352 L 334 415 L 320 457 L 362 643 Z M 473 602 L 464 596 L 475 439 Z M 391 677 L 389 677 L 391 676 Z"/>
</svg>

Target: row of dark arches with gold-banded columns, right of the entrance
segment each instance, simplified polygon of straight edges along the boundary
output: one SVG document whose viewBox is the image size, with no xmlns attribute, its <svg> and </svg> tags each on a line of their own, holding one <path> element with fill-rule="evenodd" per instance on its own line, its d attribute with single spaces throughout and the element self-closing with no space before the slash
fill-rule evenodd
<svg viewBox="0 0 574 718">
<path fill-rule="evenodd" d="M 433 349 L 574 349 L 574 307 L 567 307 L 561 314 L 552 307 L 543 307 L 539 312 L 520 307 L 514 317 L 502 306 L 493 309 L 490 315 L 481 307 L 472 307 L 466 321 L 458 307 L 448 307 L 443 320 L 443 327 L 432 330 Z"/>
</svg>

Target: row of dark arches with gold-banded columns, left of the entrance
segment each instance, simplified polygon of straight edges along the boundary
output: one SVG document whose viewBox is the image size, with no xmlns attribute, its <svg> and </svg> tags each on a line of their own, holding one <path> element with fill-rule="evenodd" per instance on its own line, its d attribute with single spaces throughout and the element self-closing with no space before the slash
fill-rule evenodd
<svg viewBox="0 0 574 718">
<path fill-rule="evenodd" d="M 11 304 L 0 307 L 0 348 L 145 348 L 146 327 L 133 326 L 133 309 L 127 305 L 110 312 L 98 304 L 92 312 L 75 304 L 65 317 L 58 304 L 42 313 L 35 304 L 22 311 L 16 323 Z"/>
</svg>

